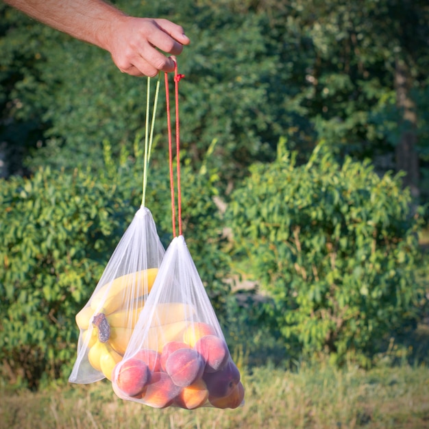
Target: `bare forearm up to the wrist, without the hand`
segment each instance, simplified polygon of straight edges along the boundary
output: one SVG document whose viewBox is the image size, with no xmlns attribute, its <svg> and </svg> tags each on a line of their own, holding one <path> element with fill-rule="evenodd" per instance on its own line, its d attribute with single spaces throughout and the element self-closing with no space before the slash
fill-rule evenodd
<svg viewBox="0 0 429 429">
<path fill-rule="evenodd" d="M 66 34 L 107 49 L 125 14 L 101 0 L 5 0 L 12 7 Z"/>
</svg>

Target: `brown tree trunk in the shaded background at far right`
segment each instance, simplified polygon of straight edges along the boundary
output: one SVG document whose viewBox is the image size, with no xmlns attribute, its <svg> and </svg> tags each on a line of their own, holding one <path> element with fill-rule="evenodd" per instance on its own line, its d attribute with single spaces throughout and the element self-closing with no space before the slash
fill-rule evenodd
<svg viewBox="0 0 429 429">
<path fill-rule="evenodd" d="M 413 197 L 419 196 L 419 157 L 417 145 L 417 113 L 410 97 L 410 73 L 404 60 L 395 62 L 395 88 L 397 107 L 402 112 L 400 140 L 395 148 L 396 169 L 405 171 L 404 186 L 409 186 Z"/>
</svg>

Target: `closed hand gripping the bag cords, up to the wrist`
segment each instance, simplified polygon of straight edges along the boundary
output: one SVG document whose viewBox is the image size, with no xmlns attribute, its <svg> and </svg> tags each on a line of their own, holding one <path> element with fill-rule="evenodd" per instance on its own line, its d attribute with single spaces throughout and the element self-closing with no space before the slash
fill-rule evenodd
<svg viewBox="0 0 429 429">
<path fill-rule="evenodd" d="M 183 28 L 167 19 L 123 16 L 108 34 L 106 49 L 123 73 L 154 77 L 159 71 L 171 72 L 174 62 L 161 51 L 179 55 L 189 38 Z M 158 50 L 158 49 L 160 50 Z"/>
</svg>

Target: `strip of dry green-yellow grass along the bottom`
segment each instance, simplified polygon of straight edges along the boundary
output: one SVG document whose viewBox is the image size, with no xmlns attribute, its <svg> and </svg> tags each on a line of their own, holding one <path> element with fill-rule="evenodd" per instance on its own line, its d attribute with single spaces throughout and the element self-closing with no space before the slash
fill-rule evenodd
<svg viewBox="0 0 429 429">
<path fill-rule="evenodd" d="M 236 410 L 158 410 L 120 400 L 108 382 L 0 391 L 1 429 L 424 429 L 429 427 L 429 369 L 363 371 L 329 365 L 296 373 L 243 371 L 245 405 Z"/>
</svg>

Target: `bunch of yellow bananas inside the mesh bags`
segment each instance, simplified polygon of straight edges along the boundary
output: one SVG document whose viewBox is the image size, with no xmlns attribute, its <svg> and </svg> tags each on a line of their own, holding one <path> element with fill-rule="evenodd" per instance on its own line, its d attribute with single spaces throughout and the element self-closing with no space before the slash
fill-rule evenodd
<svg viewBox="0 0 429 429">
<path fill-rule="evenodd" d="M 151 268 L 114 279 L 102 286 L 76 315 L 90 365 L 108 380 L 112 380 L 112 370 L 125 354 L 157 273 L 157 268 Z M 154 348 L 159 349 L 180 334 L 194 313 L 192 306 L 179 302 L 156 304 L 149 328 L 149 338 L 158 343 Z"/>
</svg>

